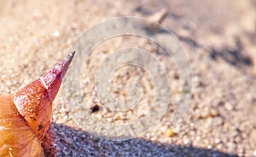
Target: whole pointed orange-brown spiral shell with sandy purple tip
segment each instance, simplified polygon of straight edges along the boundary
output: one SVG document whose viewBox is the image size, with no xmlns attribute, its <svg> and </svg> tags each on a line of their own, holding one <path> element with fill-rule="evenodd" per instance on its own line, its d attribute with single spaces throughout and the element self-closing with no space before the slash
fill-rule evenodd
<svg viewBox="0 0 256 157">
<path fill-rule="evenodd" d="M 52 102 L 73 59 L 67 55 L 41 78 L 15 95 L 0 96 L 0 156 L 44 156 L 41 142 L 49 129 Z"/>
</svg>

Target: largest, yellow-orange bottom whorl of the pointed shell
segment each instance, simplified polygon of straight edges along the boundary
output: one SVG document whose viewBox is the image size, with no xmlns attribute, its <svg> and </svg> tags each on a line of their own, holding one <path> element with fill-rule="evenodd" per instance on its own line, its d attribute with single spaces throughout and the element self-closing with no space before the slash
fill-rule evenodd
<svg viewBox="0 0 256 157">
<path fill-rule="evenodd" d="M 0 96 L 0 156 L 44 156 L 40 140 L 26 124 L 13 96 Z"/>
</svg>

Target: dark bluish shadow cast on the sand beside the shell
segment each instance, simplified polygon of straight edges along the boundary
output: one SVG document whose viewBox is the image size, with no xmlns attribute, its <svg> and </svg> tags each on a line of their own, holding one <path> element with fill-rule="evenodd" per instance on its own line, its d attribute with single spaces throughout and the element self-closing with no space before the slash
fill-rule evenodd
<svg viewBox="0 0 256 157">
<path fill-rule="evenodd" d="M 150 142 L 143 138 L 110 141 L 55 123 L 50 127 L 55 134 L 55 156 L 238 156 L 214 149 Z"/>
</svg>

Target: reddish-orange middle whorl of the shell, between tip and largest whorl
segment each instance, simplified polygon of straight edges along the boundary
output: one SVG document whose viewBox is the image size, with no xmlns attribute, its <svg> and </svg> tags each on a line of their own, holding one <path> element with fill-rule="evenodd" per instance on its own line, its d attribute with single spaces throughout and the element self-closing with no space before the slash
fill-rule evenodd
<svg viewBox="0 0 256 157">
<path fill-rule="evenodd" d="M 27 84 L 15 94 L 14 102 L 27 125 L 42 140 L 48 131 L 52 113 L 52 100 L 44 84 L 39 78 Z"/>
</svg>

